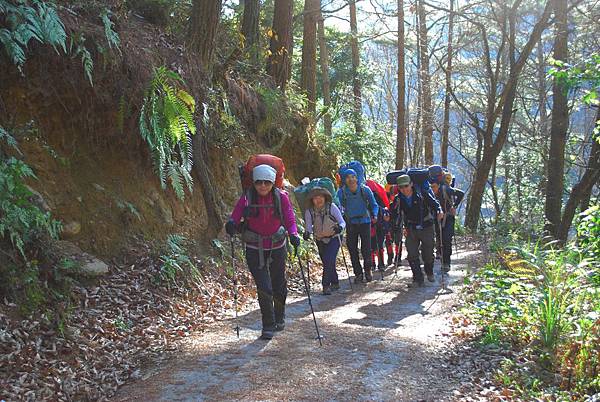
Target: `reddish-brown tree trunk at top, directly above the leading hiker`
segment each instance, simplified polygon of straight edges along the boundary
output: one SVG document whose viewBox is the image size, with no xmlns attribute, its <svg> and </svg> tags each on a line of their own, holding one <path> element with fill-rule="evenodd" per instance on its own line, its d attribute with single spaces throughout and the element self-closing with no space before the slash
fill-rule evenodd
<svg viewBox="0 0 600 402">
<path fill-rule="evenodd" d="M 285 91 L 291 76 L 293 12 L 293 0 L 275 0 L 267 74 L 273 77 L 275 84 L 282 91 Z"/>
</svg>

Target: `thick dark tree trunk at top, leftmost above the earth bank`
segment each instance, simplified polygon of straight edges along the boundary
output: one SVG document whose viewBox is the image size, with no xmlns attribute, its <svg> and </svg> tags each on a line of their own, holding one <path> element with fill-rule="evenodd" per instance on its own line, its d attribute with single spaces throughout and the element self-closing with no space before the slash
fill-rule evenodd
<svg viewBox="0 0 600 402">
<path fill-rule="evenodd" d="M 194 0 L 188 31 L 188 48 L 195 52 L 204 71 L 212 69 L 215 35 L 222 0 Z"/>
</svg>

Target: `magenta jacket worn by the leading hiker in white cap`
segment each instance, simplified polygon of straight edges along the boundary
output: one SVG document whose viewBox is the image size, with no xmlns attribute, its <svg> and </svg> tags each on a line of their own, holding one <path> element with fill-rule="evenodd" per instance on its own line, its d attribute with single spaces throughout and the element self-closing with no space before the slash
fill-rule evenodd
<svg viewBox="0 0 600 402">
<path fill-rule="evenodd" d="M 280 193 L 283 226 L 289 235 L 297 236 L 298 227 L 296 226 L 296 216 L 294 215 L 292 203 L 290 202 L 290 198 L 285 191 L 280 191 Z M 267 195 L 266 197 L 258 196 L 256 203 L 258 205 L 273 205 L 273 197 L 271 194 Z M 231 219 L 236 223 L 236 225 L 238 225 L 244 217 L 244 209 L 246 206 L 248 206 L 248 204 L 249 201 L 246 198 L 246 194 L 243 194 L 231 213 Z M 282 221 L 277 216 L 274 205 L 270 208 L 258 208 L 258 216 L 250 216 L 245 219 L 247 220 L 246 223 L 248 225 L 248 229 L 254 233 L 258 233 L 261 236 L 267 236 L 267 238 L 263 240 L 263 248 L 265 250 L 280 248 L 285 243 L 285 241 L 281 241 L 276 244 L 271 244 L 271 239 L 268 238 L 277 232 Z M 248 243 L 248 247 L 257 248 L 258 245 Z"/>
</svg>

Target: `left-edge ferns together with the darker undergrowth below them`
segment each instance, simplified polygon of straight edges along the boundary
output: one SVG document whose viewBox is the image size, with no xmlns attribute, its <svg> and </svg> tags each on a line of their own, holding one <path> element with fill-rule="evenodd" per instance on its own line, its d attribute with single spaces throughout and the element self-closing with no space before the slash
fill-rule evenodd
<svg viewBox="0 0 600 402">
<path fill-rule="evenodd" d="M 40 260 L 44 244 L 58 238 L 62 225 L 35 202 L 26 182 L 37 178 L 20 156 L 15 136 L 0 127 L 0 296 L 25 316 L 42 313 L 61 331 L 78 266 L 67 259 Z"/>
</svg>

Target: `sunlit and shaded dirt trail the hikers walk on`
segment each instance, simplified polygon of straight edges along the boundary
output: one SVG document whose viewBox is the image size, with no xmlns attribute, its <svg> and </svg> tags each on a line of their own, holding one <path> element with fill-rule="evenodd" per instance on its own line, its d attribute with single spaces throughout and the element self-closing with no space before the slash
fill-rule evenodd
<svg viewBox="0 0 600 402">
<path fill-rule="evenodd" d="M 292 298 L 284 332 L 266 342 L 260 313 L 240 318 L 240 339 L 233 322 L 215 325 L 193 337 L 184 353 L 120 390 L 116 400 L 448 400 L 460 387 L 447 359 L 449 318 L 461 304 L 463 278 L 478 251 L 454 256 L 449 290 L 439 282 L 408 289 L 410 271 L 393 267 L 366 285 L 348 281 L 331 296 L 313 289 L 313 304 L 323 347 L 305 298 Z M 436 262 L 439 279 L 439 262 Z M 341 271 L 340 271 L 341 272 Z"/>
</svg>

